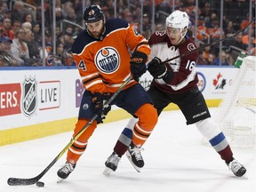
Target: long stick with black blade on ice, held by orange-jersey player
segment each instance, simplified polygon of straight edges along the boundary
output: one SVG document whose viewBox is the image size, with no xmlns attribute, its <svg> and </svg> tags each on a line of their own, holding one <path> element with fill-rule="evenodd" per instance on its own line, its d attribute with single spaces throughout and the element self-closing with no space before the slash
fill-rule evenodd
<svg viewBox="0 0 256 192">
<path fill-rule="evenodd" d="M 119 92 L 121 92 L 124 87 L 132 80 L 132 76 L 130 76 L 123 84 L 121 84 L 121 86 L 118 88 L 118 90 L 111 96 L 111 98 L 108 100 L 108 102 L 104 105 L 104 106 L 108 106 L 115 98 L 116 96 L 119 94 Z M 33 185 L 33 184 L 36 184 L 36 182 L 38 180 L 40 180 L 44 174 L 46 172 L 48 172 L 52 165 L 55 164 L 61 156 L 63 156 L 63 154 L 68 150 L 68 148 L 83 134 L 83 132 L 92 124 L 92 122 L 98 117 L 97 114 L 95 114 L 93 117 L 92 117 L 92 120 L 89 121 L 87 124 L 84 125 L 83 129 L 80 130 L 80 132 L 78 132 L 76 134 L 76 136 L 73 138 L 73 140 L 71 140 L 68 145 L 63 148 L 61 151 L 60 151 L 60 154 L 58 156 L 56 156 L 51 164 L 49 164 L 43 172 L 41 172 L 39 175 L 37 175 L 36 177 L 34 178 L 30 178 L 30 179 L 21 179 L 21 178 L 9 178 L 7 180 L 7 183 L 10 185 L 10 186 L 17 186 L 17 185 Z"/>
</svg>

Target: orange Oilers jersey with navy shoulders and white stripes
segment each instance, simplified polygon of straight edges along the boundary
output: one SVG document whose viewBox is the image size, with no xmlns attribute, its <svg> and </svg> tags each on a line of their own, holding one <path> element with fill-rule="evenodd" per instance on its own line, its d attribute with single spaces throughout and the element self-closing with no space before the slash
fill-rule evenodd
<svg viewBox="0 0 256 192">
<path fill-rule="evenodd" d="M 125 20 L 107 20 L 105 27 L 102 40 L 93 38 L 84 30 L 72 46 L 84 89 L 92 93 L 116 92 L 131 75 L 129 49 L 134 51 L 138 44 L 148 42 Z M 148 44 L 140 44 L 137 50 L 150 53 Z M 125 88 L 132 84 L 137 82 L 132 80 Z"/>
</svg>

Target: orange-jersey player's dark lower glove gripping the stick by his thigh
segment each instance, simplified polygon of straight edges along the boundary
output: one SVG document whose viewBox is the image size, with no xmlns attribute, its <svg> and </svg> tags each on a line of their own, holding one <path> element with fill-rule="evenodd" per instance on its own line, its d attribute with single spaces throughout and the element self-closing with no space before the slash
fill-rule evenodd
<svg viewBox="0 0 256 192">
<path fill-rule="evenodd" d="M 108 114 L 108 112 L 111 110 L 111 106 L 104 105 L 109 98 L 111 97 L 111 93 L 109 92 L 103 92 L 102 94 L 100 92 L 95 92 L 92 95 L 92 102 L 94 103 L 94 111 L 95 114 L 98 115 L 96 118 L 96 121 L 98 124 L 103 123 L 103 119 L 105 119 Z"/>
</svg>

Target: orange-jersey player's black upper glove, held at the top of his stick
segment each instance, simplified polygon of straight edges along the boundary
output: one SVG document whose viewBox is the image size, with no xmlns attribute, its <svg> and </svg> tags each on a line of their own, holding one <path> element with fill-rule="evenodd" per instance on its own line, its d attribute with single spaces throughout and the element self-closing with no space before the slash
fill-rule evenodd
<svg viewBox="0 0 256 192">
<path fill-rule="evenodd" d="M 132 53 L 132 58 L 130 60 L 130 69 L 135 81 L 139 82 L 139 77 L 142 76 L 146 71 L 146 62 L 148 60 L 148 55 L 144 52 L 135 51 Z"/>
</svg>

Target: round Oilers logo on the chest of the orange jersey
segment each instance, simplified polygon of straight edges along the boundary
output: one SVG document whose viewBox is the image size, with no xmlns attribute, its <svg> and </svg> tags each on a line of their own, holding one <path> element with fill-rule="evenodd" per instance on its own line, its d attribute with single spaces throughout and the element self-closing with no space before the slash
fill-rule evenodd
<svg viewBox="0 0 256 192">
<path fill-rule="evenodd" d="M 94 62 L 101 72 L 112 74 L 120 67 L 120 56 L 114 47 L 103 47 L 96 53 Z"/>
</svg>

